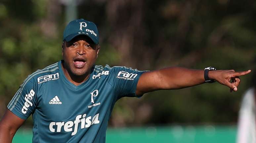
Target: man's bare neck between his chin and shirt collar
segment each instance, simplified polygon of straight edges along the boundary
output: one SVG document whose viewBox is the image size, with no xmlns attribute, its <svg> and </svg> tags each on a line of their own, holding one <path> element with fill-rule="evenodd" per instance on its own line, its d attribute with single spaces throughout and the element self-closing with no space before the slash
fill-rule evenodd
<svg viewBox="0 0 256 143">
<path fill-rule="evenodd" d="M 73 73 L 68 71 L 67 68 L 65 68 L 63 63 L 61 64 L 61 68 L 62 68 L 62 70 L 64 72 L 64 75 L 67 78 L 67 80 L 69 80 L 71 83 L 73 83 L 76 86 L 82 84 L 83 82 L 85 82 L 90 77 L 90 71 L 88 73 L 83 74 L 83 75 L 74 75 Z"/>
</svg>

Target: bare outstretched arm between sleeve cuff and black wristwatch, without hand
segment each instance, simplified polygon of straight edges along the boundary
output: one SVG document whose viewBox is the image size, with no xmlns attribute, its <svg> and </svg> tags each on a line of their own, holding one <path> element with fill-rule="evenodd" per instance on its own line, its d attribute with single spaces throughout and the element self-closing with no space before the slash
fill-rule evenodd
<svg viewBox="0 0 256 143">
<path fill-rule="evenodd" d="M 145 72 L 141 75 L 136 94 L 155 90 L 181 89 L 204 83 L 203 70 L 180 67 L 164 68 Z"/>
</svg>

